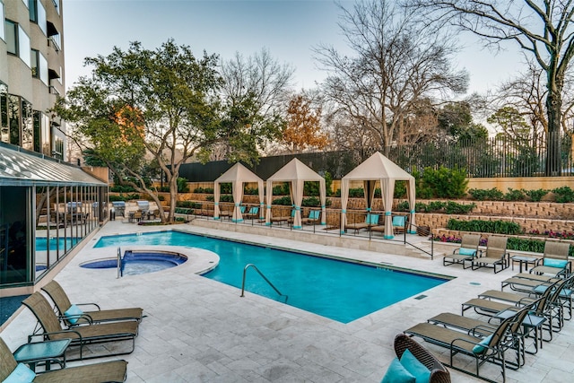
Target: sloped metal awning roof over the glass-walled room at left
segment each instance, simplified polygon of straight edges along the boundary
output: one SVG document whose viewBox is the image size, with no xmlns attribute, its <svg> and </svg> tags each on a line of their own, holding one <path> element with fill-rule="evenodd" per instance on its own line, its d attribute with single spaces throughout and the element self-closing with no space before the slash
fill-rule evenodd
<svg viewBox="0 0 574 383">
<path fill-rule="evenodd" d="M 69 163 L 10 146 L 12 147 L 0 144 L 0 186 L 104 187 L 108 185 Z"/>
</svg>

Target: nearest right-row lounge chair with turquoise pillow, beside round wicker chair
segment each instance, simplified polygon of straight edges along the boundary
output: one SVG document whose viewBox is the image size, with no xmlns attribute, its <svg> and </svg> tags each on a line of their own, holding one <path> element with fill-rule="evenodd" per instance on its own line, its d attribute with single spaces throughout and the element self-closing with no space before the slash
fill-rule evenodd
<svg viewBox="0 0 574 383">
<path fill-rule="evenodd" d="M 506 379 L 506 362 L 504 353 L 512 345 L 509 335 L 509 326 L 515 318 L 506 318 L 487 337 L 468 335 L 461 331 L 453 330 L 431 323 L 419 323 L 404 331 L 404 334 L 419 336 L 426 342 L 445 347 L 450 352 L 448 367 L 459 370 L 483 380 L 497 382 L 498 379 L 487 379 L 480 375 L 480 367 L 487 361 L 500 365 L 502 380 Z M 457 353 L 465 354 L 474 358 L 476 372 L 465 370 L 454 365 L 454 356 Z M 466 363 L 466 361 L 465 361 Z M 498 378 L 498 377 L 497 377 Z"/>
</svg>

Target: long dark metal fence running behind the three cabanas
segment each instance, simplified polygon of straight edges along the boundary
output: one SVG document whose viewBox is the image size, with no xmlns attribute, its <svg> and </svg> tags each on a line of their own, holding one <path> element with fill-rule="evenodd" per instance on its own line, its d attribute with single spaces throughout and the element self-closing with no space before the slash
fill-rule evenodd
<svg viewBox="0 0 574 383">
<path fill-rule="evenodd" d="M 574 175 L 570 135 L 561 137 L 561 175 Z M 312 152 L 261 158 L 249 167 L 259 177 L 266 179 L 293 158 L 321 175 L 328 172 L 332 178 L 343 178 L 373 151 Z M 435 142 L 421 145 L 385 147 L 380 150 L 401 168 L 412 172 L 431 167 L 438 169 L 465 169 L 468 178 L 535 177 L 544 176 L 546 169 L 546 144 L 540 139 L 488 138 L 457 142 Z M 184 164 L 180 177 L 190 182 L 210 182 L 230 168 L 227 161 Z"/>
</svg>

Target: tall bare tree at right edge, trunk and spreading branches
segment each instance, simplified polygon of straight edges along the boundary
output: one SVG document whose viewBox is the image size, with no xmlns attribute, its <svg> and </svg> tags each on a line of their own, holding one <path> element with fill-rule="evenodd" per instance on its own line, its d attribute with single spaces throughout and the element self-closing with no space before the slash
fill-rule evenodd
<svg viewBox="0 0 574 383">
<path fill-rule="evenodd" d="M 561 120 L 564 81 L 574 56 L 572 0 L 407 0 L 427 10 L 426 22 L 444 22 L 468 30 L 499 47 L 514 41 L 534 58 L 546 75 L 548 120 L 546 174 L 561 174 Z M 537 32 L 539 30 L 540 32 Z"/>
</svg>

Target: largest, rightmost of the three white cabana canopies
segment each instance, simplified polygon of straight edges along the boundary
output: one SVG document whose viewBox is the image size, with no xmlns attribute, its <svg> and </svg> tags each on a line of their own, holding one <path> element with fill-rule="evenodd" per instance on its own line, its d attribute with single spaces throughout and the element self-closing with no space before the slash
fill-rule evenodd
<svg viewBox="0 0 574 383">
<path fill-rule="evenodd" d="M 373 204 L 375 196 L 375 183 L 380 183 L 381 197 L 383 200 L 383 209 L 385 210 L 385 238 L 393 238 L 393 218 L 391 209 L 393 207 L 393 194 L 395 192 L 395 181 L 404 180 L 409 200 L 411 224 L 414 222 L 414 177 L 402 170 L 395 162 L 390 161 L 380 152 L 371 155 L 361 165 L 351 170 L 349 174 L 341 179 L 341 231 L 344 232 L 346 223 L 346 208 L 349 200 L 349 182 L 362 180 L 365 190 L 365 200 L 367 202 L 367 211 Z"/>
</svg>

